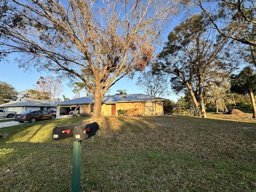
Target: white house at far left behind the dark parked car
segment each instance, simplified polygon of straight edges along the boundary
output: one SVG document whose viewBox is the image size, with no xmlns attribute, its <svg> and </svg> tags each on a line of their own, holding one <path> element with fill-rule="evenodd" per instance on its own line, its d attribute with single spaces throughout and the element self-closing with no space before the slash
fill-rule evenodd
<svg viewBox="0 0 256 192">
<path fill-rule="evenodd" d="M 22 99 L 19 98 L 16 101 L 0 104 L 0 108 L 7 111 L 16 111 L 17 114 L 30 111 L 30 110 L 46 110 L 49 112 L 56 112 L 56 103 L 51 100 L 39 100 L 39 99 Z"/>
</svg>

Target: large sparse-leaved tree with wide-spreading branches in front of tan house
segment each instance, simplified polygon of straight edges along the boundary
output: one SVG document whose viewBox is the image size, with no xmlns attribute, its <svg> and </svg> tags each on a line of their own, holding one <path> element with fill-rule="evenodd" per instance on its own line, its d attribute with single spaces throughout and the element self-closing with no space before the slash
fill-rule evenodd
<svg viewBox="0 0 256 192">
<path fill-rule="evenodd" d="M 154 42 L 180 2 L 2 0 L 0 52 L 23 53 L 21 67 L 79 78 L 94 94 L 92 118 L 101 119 L 106 90 L 148 66 Z"/>
</svg>

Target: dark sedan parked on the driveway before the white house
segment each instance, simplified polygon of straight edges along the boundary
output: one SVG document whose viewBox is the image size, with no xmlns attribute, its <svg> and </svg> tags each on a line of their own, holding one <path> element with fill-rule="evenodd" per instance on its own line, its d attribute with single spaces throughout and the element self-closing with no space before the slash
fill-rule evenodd
<svg viewBox="0 0 256 192">
<path fill-rule="evenodd" d="M 33 110 L 33 111 L 25 111 L 20 114 L 16 114 L 14 116 L 14 121 L 18 121 L 23 123 L 25 121 L 29 121 L 30 123 L 34 123 L 39 120 L 46 119 L 55 119 L 56 114 L 45 111 L 45 110 Z"/>
</svg>

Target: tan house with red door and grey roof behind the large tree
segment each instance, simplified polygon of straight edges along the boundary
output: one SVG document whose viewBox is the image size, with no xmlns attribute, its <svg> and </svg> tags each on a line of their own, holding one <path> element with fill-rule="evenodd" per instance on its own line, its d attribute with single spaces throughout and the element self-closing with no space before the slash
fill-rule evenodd
<svg viewBox="0 0 256 192">
<path fill-rule="evenodd" d="M 163 115 L 166 99 L 145 94 L 109 95 L 102 99 L 101 111 L 104 116 L 118 115 L 118 110 L 128 110 L 128 115 Z M 70 110 L 92 115 L 94 97 L 82 97 L 56 103 L 56 115 L 68 114 Z"/>
</svg>

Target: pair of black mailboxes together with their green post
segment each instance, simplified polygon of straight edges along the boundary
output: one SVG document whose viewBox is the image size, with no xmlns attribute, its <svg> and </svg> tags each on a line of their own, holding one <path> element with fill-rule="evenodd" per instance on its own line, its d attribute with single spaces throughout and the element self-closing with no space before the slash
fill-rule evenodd
<svg viewBox="0 0 256 192">
<path fill-rule="evenodd" d="M 78 124 L 58 126 L 52 131 L 52 140 L 62 140 L 73 137 L 73 163 L 72 163 L 72 186 L 71 192 L 80 190 L 80 168 L 81 168 L 81 144 L 99 130 L 96 122 L 79 126 Z"/>
</svg>

